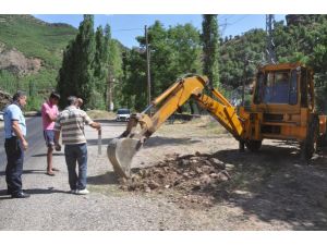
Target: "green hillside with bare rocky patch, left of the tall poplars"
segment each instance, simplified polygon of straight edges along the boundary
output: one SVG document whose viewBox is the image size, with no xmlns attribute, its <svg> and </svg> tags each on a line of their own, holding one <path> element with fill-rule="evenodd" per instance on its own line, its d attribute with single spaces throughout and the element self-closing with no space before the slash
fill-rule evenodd
<svg viewBox="0 0 327 245">
<path fill-rule="evenodd" d="M 0 15 L 0 89 L 25 90 L 32 98 L 27 109 L 37 109 L 56 88 L 63 50 L 76 33 L 32 15 Z"/>
</svg>

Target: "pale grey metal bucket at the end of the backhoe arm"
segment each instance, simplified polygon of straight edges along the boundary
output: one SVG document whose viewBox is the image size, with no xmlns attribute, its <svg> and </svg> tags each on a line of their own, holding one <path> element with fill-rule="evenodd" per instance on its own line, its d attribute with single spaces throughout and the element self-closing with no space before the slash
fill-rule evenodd
<svg viewBox="0 0 327 245">
<path fill-rule="evenodd" d="M 113 138 L 107 148 L 107 155 L 114 172 L 120 177 L 131 176 L 131 163 L 142 143 L 136 138 Z"/>
</svg>

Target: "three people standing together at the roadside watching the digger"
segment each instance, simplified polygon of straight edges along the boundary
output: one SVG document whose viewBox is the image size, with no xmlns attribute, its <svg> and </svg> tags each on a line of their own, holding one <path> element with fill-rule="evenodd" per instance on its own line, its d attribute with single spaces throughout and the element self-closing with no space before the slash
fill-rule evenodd
<svg viewBox="0 0 327 245">
<path fill-rule="evenodd" d="M 23 91 L 13 96 L 13 102 L 4 109 L 4 148 L 7 154 L 5 182 L 8 195 L 12 198 L 27 198 L 29 194 L 22 188 L 24 151 L 28 148 L 26 140 L 26 122 L 22 109 L 27 97 Z M 41 106 L 44 137 L 47 146 L 46 174 L 55 176 L 59 171 L 52 164 L 53 150 L 61 150 L 60 135 L 64 145 L 64 157 L 69 172 L 71 193 L 85 195 L 87 177 L 87 145 L 84 125 L 87 124 L 98 131 L 101 125 L 94 122 L 81 109 L 83 100 L 75 96 L 68 98 L 68 107 L 59 112 L 60 95 L 51 93 L 49 100 Z M 76 172 L 76 164 L 78 171 Z"/>
</svg>

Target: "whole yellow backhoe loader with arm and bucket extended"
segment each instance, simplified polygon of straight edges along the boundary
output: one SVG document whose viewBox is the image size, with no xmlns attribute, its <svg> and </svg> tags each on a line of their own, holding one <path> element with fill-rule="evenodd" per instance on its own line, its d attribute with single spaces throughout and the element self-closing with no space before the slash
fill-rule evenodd
<svg viewBox="0 0 327 245">
<path fill-rule="evenodd" d="M 268 64 L 258 69 L 254 85 L 251 108 L 237 110 L 209 87 L 206 76 L 178 79 L 142 113 L 132 114 L 122 135 L 109 143 L 107 154 L 116 173 L 130 176 L 133 156 L 191 97 L 239 140 L 240 150 L 246 146 L 257 151 L 264 138 L 296 140 L 302 158 L 311 159 L 326 135 L 327 118 L 315 111 L 313 71 L 301 63 Z M 154 108 L 155 114 L 147 115 Z"/>
</svg>

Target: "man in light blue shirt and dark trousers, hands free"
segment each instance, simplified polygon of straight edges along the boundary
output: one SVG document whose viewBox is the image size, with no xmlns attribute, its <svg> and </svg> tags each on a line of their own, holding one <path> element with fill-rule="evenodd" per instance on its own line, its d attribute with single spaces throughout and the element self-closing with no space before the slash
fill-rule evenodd
<svg viewBox="0 0 327 245">
<path fill-rule="evenodd" d="M 13 96 L 13 103 L 4 109 L 4 148 L 7 154 L 5 181 L 8 194 L 12 198 L 26 198 L 29 194 L 22 189 L 22 174 L 24 163 L 24 151 L 28 144 L 26 137 L 26 123 L 22 108 L 26 105 L 26 95 L 17 91 Z"/>
</svg>

